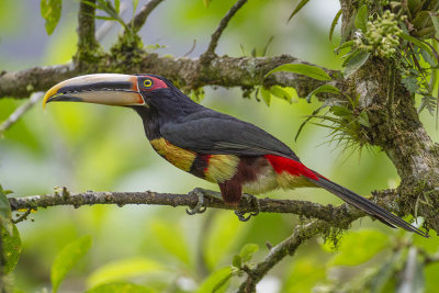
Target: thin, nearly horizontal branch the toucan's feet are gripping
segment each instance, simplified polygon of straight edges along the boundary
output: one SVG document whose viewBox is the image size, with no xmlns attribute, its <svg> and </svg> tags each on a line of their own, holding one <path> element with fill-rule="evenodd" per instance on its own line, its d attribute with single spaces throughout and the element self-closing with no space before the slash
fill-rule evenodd
<svg viewBox="0 0 439 293">
<path fill-rule="evenodd" d="M 211 191 L 213 192 L 213 191 Z M 205 195 L 205 205 L 207 207 L 234 210 L 234 206 L 226 205 L 222 200 Z M 151 204 L 170 206 L 190 206 L 194 207 L 198 203 L 198 196 L 189 192 L 188 194 L 158 193 L 151 191 L 145 192 L 83 192 L 70 193 L 66 189 L 63 192 L 55 191 L 53 194 L 32 195 L 24 198 L 9 198 L 12 211 L 23 209 L 48 207 L 57 205 L 81 205 L 94 204 Z M 334 207 L 331 205 L 322 205 L 306 201 L 294 200 L 273 200 L 258 199 L 259 211 L 266 213 L 290 213 L 299 214 L 304 217 L 315 217 L 333 223 L 335 226 L 346 227 L 347 222 L 351 222 L 364 214 L 347 204 Z M 256 212 L 256 207 L 247 200 L 243 200 L 238 206 L 241 212 Z"/>
</svg>

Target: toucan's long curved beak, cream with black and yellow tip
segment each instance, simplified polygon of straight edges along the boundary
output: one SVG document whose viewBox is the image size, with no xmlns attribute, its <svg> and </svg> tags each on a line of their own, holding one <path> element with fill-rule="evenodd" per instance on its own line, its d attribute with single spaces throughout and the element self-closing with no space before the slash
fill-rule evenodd
<svg viewBox="0 0 439 293">
<path fill-rule="evenodd" d="M 85 102 L 106 105 L 145 104 L 137 87 L 137 77 L 99 74 L 75 77 L 54 86 L 46 92 L 43 108 L 49 102 Z"/>
</svg>

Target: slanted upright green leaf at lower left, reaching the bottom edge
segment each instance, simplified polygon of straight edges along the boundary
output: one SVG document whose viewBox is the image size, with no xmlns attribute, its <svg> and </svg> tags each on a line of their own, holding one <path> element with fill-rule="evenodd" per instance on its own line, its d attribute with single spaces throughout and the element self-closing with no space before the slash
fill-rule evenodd
<svg viewBox="0 0 439 293">
<path fill-rule="evenodd" d="M 75 267 L 75 264 L 89 251 L 91 247 L 91 236 L 86 235 L 79 237 L 75 241 L 68 244 L 58 256 L 56 256 L 52 264 L 50 280 L 53 292 L 56 292 L 66 277 L 66 274 Z"/>
</svg>

